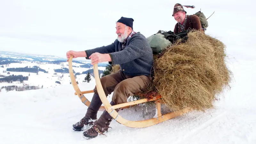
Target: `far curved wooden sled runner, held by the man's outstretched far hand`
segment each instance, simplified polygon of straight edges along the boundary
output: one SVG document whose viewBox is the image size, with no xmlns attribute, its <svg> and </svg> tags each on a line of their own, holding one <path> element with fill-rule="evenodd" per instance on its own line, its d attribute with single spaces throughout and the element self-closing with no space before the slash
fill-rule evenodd
<svg viewBox="0 0 256 144">
<path fill-rule="evenodd" d="M 69 75 L 70 75 L 70 79 L 71 79 L 71 83 L 73 85 L 73 88 L 75 89 L 75 95 L 77 95 L 80 100 L 87 106 L 89 107 L 89 105 L 91 104 L 91 102 L 86 99 L 86 97 L 84 96 L 84 94 L 87 94 L 87 93 L 93 93 L 93 90 L 90 90 L 90 91 L 84 91 L 83 93 L 80 91 L 77 83 L 76 83 L 76 78 L 75 78 L 75 75 L 74 75 L 74 72 L 73 72 L 73 68 L 72 68 L 72 59 L 73 59 L 73 55 L 70 56 L 69 60 L 68 60 L 68 70 L 69 70 Z M 100 109 L 104 108 L 104 106 L 101 106 Z"/>
</svg>

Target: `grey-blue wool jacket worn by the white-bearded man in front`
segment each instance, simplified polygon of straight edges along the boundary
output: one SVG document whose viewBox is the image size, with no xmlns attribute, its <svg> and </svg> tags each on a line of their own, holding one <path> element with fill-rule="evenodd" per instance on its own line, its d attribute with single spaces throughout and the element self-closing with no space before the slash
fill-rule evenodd
<svg viewBox="0 0 256 144">
<path fill-rule="evenodd" d="M 153 76 L 153 53 L 145 36 L 137 32 L 127 42 L 123 49 L 117 39 L 107 46 L 85 50 L 87 58 L 92 53 L 108 53 L 111 57 L 109 64 L 119 64 L 124 74 L 128 76 Z"/>
</svg>

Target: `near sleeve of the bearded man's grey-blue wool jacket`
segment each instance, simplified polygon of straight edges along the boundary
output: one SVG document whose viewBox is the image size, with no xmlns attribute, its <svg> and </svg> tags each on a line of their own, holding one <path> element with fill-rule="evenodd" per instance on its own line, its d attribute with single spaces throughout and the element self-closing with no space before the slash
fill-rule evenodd
<svg viewBox="0 0 256 144">
<path fill-rule="evenodd" d="M 129 45 L 127 45 L 124 50 L 109 53 L 112 64 L 123 64 L 143 56 L 146 49 L 145 47 L 147 46 L 147 44 L 145 44 L 146 42 L 147 41 L 142 37 L 132 38 Z"/>
</svg>

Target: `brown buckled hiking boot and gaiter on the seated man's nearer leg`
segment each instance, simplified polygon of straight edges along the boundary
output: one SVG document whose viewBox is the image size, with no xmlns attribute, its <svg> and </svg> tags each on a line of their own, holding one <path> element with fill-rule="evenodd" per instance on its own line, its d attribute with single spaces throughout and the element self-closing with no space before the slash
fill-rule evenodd
<svg viewBox="0 0 256 144">
<path fill-rule="evenodd" d="M 112 106 L 115 105 L 114 102 L 111 101 L 110 103 Z M 116 109 L 118 112 L 119 109 Z M 104 132 L 108 132 L 108 127 L 110 122 L 112 121 L 112 116 L 108 114 L 106 110 L 102 113 L 100 118 L 93 124 L 92 128 L 89 130 L 85 131 L 83 133 L 85 139 L 92 139 L 98 136 L 98 134 L 105 135 L 103 134 Z"/>
</svg>

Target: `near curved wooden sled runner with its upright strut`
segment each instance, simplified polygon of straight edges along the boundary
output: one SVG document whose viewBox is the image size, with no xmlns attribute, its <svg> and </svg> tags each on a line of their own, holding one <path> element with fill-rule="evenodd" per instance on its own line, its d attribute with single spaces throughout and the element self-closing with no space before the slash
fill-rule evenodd
<svg viewBox="0 0 256 144">
<path fill-rule="evenodd" d="M 187 113 L 189 111 L 187 108 L 185 108 L 185 109 L 180 110 L 180 111 L 175 111 L 175 112 L 171 112 L 171 113 L 167 113 L 165 115 L 162 115 L 161 111 L 159 109 L 160 108 L 160 103 L 158 101 L 156 101 L 156 109 L 157 109 L 157 112 L 158 112 L 156 118 L 151 118 L 151 119 L 143 120 L 143 121 L 126 120 L 122 116 L 120 116 L 115 110 L 116 108 L 122 108 L 125 105 L 125 103 L 124 104 L 118 104 L 118 105 L 115 105 L 115 106 L 111 106 L 110 103 L 108 102 L 108 99 L 107 99 L 107 97 L 104 93 L 104 90 L 103 90 L 101 82 L 100 82 L 98 64 L 93 65 L 93 71 L 94 71 L 97 91 L 98 91 L 98 94 L 100 96 L 100 100 L 102 101 L 106 111 L 108 111 L 110 116 L 112 116 L 113 119 L 115 119 L 118 123 L 123 124 L 127 127 L 143 128 L 143 127 L 152 126 L 152 125 L 164 122 L 164 121 L 166 121 L 168 119 L 171 119 L 173 117 L 180 116 L 180 115 L 182 115 L 184 113 Z M 136 101 L 138 101 L 138 100 L 136 100 Z M 136 104 L 136 101 L 134 101 L 134 104 Z M 149 100 L 149 101 L 151 101 L 151 100 Z M 129 103 L 131 105 L 134 105 L 131 102 L 129 102 Z M 143 102 L 140 102 L 140 103 L 143 103 Z M 160 114 L 159 114 L 159 112 L 160 112 Z"/>
</svg>

